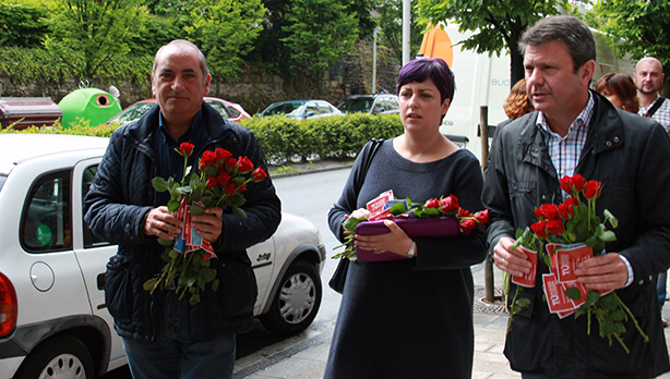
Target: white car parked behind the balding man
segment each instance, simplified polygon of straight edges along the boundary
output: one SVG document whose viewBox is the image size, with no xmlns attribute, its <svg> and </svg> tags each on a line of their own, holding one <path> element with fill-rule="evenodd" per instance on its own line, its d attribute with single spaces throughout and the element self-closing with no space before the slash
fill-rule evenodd
<svg viewBox="0 0 670 379">
<path fill-rule="evenodd" d="M 108 139 L 0 134 L 0 379 L 94 378 L 127 363 L 103 291 L 117 246 L 83 221 L 83 199 Z M 297 333 L 321 304 L 325 246 L 316 227 L 284 213 L 249 248 L 270 330 Z"/>
</svg>

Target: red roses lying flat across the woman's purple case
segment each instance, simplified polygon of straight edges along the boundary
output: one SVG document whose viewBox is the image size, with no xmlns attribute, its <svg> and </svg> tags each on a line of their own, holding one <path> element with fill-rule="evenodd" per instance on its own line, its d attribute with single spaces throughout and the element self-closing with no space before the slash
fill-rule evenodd
<svg viewBox="0 0 670 379">
<path fill-rule="evenodd" d="M 380 205 L 380 198 L 382 205 Z M 385 200 L 385 201 L 384 201 Z M 454 195 L 442 198 L 432 198 L 426 203 L 411 203 L 409 198 L 405 200 L 393 199 L 393 193 L 386 192 L 380 195 L 368 204 L 368 209 L 373 213 L 369 219 L 348 217 L 345 219 L 343 227 L 345 228 L 345 243 L 334 247 L 335 249 L 345 247 L 340 253 L 333 256 L 333 259 L 347 258 L 354 260 L 357 265 L 362 265 L 362 261 L 357 259 L 356 246 L 354 245 L 354 235 L 359 223 L 373 220 L 405 220 L 405 219 L 431 219 L 441 217 L 453 217 L 458 221 L 458 234 L 470 235 L 477 225 L 487 225 L 489 223 L 489 211 L 483 210 L 476 213 L 470 213 L 468 210 L 460 208 L 458 198 Z"/>
</svg>

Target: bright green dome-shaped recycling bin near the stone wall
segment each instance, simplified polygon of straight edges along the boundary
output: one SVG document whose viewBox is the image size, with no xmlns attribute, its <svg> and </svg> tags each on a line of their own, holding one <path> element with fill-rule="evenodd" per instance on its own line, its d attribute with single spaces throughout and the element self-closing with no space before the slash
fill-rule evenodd
<svg viewBox="0 0 670 379">
<path fill-rule="evenodd" d="M 73 90 L 58 103 L 63 111 L 63 127 L 72 127 L 76 118 L 87 120 L 91 126 L 106 123 L 121 111 L 121 106 L 109 93 L 98 88 Z"/>
</svg>

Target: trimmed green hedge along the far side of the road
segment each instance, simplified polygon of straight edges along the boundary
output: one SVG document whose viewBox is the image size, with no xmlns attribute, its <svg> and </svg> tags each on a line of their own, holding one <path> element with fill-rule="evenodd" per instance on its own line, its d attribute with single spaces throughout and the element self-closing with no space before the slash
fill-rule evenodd
<svg viewBox="0 0 670 379">
<path fill-rule="evenodd" d="M 79 121 L 79 120 L 77 120 Z M 265 159 L 272 163 L 323 158 L 355 157 L 372 138 L 392 138 L 403 133 L 398 114 L 371 115 L 354 113 L 297 121 L 284 115 L 251 118 L 240 124 L 255 135 Z M 14 131 L 11 125 L 0 133 L 79 134 L 109 137 L 118 125 L 91 127 L 86 121 L 64 129 L 29 127 Z"/>
</svg>

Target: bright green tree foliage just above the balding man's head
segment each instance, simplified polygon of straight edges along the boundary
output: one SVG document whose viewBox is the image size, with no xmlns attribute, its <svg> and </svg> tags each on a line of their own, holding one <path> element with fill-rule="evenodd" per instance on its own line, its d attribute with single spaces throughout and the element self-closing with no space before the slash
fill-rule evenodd
<svg viewBox="0 0 670 379">
<path fill-rule="evenodd" d="M 198 0 L 184 29 L 207 57 L 212 77 L 234 81 L 263 28 L 261 0 Z"/>
</svg>

